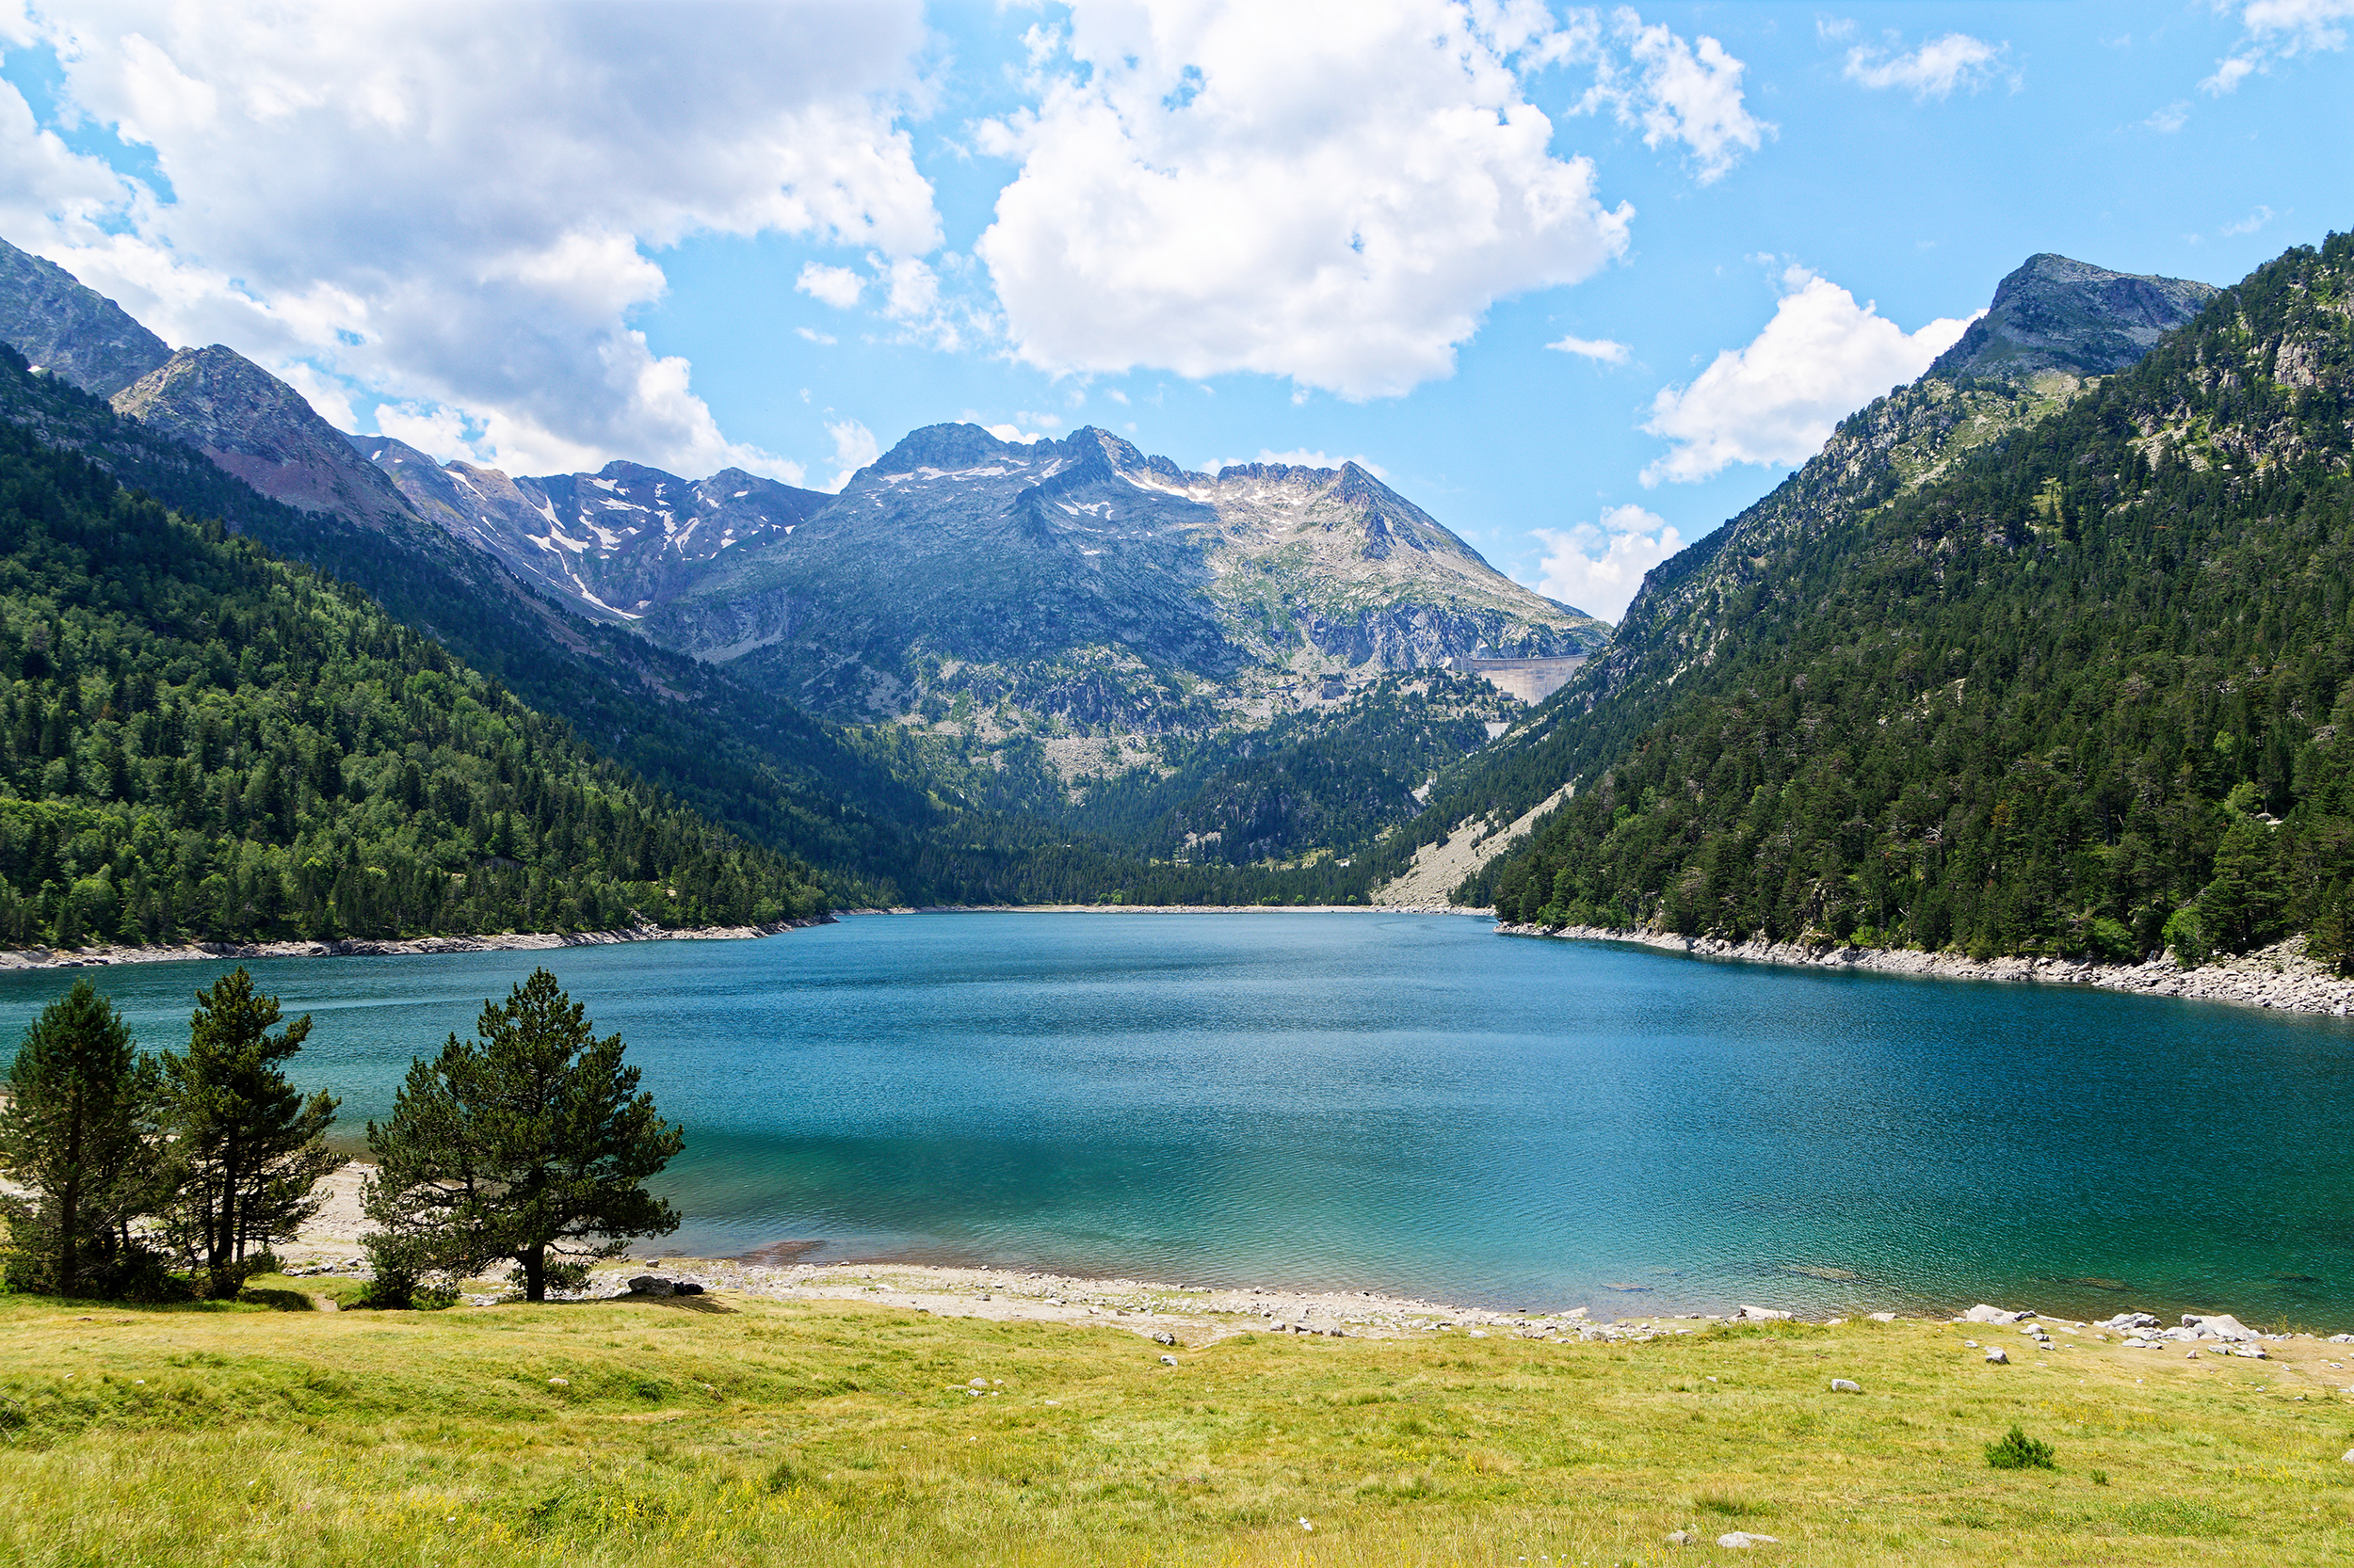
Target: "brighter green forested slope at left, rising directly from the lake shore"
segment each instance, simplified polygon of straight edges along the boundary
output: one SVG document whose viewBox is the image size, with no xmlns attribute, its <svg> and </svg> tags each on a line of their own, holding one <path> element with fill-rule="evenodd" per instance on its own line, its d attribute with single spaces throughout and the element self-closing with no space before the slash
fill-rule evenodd
<svg viewBox="0 0 2354 1568">
<path fill-rule="evenodd" d="M 0 424 L 0 944 L 819 906 L 358 591 Z"/>
</svg>

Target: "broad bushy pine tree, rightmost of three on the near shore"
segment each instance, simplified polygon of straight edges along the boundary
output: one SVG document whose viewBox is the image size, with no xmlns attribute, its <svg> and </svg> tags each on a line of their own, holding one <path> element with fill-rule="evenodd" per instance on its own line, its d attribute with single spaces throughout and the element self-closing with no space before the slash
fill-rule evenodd
<svg viewBox="0 0 2354 1568">
<path fill-rule="evenodd" d="M 678 1210 L 640 1182 L 685 1135 L 638 1092 L 621 1036 L 596 1038 L 546 970 L 483 1003 L 476 1031 L 412 1062 L 391 1121 L 367 1123 L 379 1269 L 464 1278 L 506 1260 L 525 1300 L 544 1302 L 551 1285 L 577 1288 L 591 1260 L 678 1229 Z"/>
</svg>

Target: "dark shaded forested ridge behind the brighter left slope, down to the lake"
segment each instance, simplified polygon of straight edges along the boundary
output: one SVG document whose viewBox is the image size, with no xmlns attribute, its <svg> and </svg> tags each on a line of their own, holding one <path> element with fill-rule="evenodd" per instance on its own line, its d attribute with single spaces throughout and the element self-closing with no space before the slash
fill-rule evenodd
<svg viewBox="0 0 2354 1568">
<path fill-rule="evenodd" d="M 814 866 L 836 904 L 1318 902 L 1311 878 L 1156 866 L 1151 812 L 1073 810 L 1036 746 L 989 758 L 880 723 L 817 720 L 730 671 L 598 626 L 523 589 L 424 523 L 365 530 L 254 492 L 193 447 L 120 419 L 0 346 L 0 419 L 92 461 L 186 518 L 358 584 L 386 614 L 563 718 L 605 758 L 744 838 Z M 946 716 L 946 709 L 939 711 Z M 1224 753 L 1219 753 L 1224 756 Z M 1361 881 L 1361 878 L 1354 878 Z M 0 932 L 0 939 L 7 939 Z"/>
</svg>

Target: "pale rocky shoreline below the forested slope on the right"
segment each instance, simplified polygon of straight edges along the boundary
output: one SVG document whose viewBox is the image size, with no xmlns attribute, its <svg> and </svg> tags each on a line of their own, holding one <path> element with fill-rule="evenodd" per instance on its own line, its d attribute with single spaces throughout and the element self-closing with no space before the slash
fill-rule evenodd
<svg viewBox="0 0 2354 1568">
<path fill-rule="evenodd" d="M 1881 975 L 1926 975 L 1933 979 L 2008 979 L 2032 984 L 2097 986 L 2102 991 L 2140 991 L 2144 996 L 2180 996 L 2189 1001 L 2276 1008 L 2281 1012 L 2326 1012 L 2345 1017 L 2354 1010 L 2354 979 L 2342 979 L 2305 956 L 2305 937 L 2276 942 L 2255 954 L 2215 958 L 2196 970 L 2159 954 L 2144 963 L 2097 963 L 2090 958 L 1966 958 L 1961 954 L 1921 954 L 1876 946 L 1803 946 L 1798 942 L 1725 942 L 1723 937 L 1678 937 L 1660 930 L 1612 930 L 1603 925 L 1511 925 L 1507 937 L 1565 937 L 1570 942 L 1631 942 L 1695 958 L 1740 958 L 1744 963 L 1782 963 L 1808 970 L 1869 970 Z"/>
</svg>

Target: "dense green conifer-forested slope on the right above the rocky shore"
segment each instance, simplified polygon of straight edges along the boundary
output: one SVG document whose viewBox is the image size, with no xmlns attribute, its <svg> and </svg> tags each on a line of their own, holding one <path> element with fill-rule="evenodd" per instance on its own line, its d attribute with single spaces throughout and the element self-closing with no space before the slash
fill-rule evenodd
<svg viewBox="0 0 2354 1568">
<path fill-rule="evenodd" d="M 2354 240 L 2062 412 L 1780 542 L 1575 723 L 1509 921 L 2189 961 L 2354 888 Z M 1570 727 L 1570 725 L 1565 725 Z"/>
</svg>

